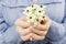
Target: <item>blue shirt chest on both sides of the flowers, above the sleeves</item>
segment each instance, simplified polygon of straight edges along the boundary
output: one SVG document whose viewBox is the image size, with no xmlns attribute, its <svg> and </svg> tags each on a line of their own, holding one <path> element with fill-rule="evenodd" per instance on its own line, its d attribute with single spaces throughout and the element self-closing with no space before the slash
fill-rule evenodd
<svg viewBox="0 0 66 44">
<path fill-rule="evenodd" d="M 6 0 L 2 1 L 3 19 L 9 25 L 14 24 L 14 21 L 23 16 L 23 9 L 32 4 L 32 0 Z M 62 22 L 64 18 L 64 0 L 37 0 L 37 4 L 46 6 L 46 14 L 56 22 Z"/>
</svg>

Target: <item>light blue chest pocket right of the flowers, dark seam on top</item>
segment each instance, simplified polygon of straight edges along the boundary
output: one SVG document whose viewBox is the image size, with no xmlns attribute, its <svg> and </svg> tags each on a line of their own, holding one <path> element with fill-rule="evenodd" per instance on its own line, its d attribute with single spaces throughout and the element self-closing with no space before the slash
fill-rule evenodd
<svg viewBox="0 0 66 44">
<path fill-rule="evenodd" d="M 46 14 L 56 22 L 62 22 L 64 18 L 64 0 L 40 0 L 40 4 L 46 6 Z"/>
</svg>

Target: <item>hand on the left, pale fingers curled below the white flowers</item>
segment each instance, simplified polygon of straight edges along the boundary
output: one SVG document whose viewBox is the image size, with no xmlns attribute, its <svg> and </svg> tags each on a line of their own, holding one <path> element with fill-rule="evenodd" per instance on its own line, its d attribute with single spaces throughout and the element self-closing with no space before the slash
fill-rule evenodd
<svg viewBox="0 0 66 44">
<path fill-rule="evenodd" d="M 16 32 L 21 35 L 23 41 L 30 40 L 32 35 L 31 33 L 32 25 L 33 23 L 26 22 L 25 18 L 19 18 L 15 21 Z"/>
</svg>

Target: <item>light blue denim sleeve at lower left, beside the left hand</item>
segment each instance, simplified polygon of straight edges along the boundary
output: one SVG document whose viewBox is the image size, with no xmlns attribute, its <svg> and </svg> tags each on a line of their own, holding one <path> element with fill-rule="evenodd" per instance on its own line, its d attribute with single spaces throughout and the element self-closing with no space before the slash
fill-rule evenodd
<svg viewBox="0 0 66 44">
<path fill-rule="evenodd" d="M 7 44 L 18 44 L 22 41 L 20 34 L 15 31 L 15 25 L 8 28 L 8 30 L 3 33 L 3 36 Z"/>
</svg>

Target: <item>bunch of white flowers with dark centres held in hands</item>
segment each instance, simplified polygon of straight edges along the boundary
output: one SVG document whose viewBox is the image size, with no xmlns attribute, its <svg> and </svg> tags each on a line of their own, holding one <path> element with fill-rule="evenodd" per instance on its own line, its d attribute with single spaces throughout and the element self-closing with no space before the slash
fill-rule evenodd
<svg viewBox="0 0 66 44">
<path fill-rule="evenodd" d="M 28 22 L 34 22 L 34 24 L 40 24 L 45 18 L 45 6 L 32 4 L 24 9 L 24 14 L 26 14 Z"/>
</svg>

